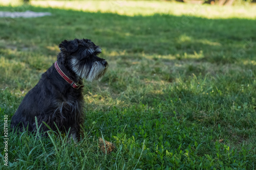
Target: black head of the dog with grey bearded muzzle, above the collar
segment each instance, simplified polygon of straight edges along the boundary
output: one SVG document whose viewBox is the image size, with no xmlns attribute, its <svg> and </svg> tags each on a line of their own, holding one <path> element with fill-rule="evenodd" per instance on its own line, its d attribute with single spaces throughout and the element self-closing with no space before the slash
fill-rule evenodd
<svg viewBox="0 0 256 170">
<path fill-rule="evenodd" d="M 59 49 L 70 69 L 87 81 L 101 80 L 108 69 L 108 62 L 97 56 L 101 48 L 90 39 L 63 40 Z"/>
</svg>

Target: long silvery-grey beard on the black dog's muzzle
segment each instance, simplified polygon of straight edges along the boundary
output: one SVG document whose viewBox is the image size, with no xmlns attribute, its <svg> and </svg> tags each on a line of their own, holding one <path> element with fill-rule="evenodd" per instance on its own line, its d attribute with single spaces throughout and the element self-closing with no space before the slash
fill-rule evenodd
<svg viewBox="0 0 256 170">
<path fill-rule="evenodd" d="M 89 82 L 100 81 L 108 70 L 108 66 L 104 66 L 99 61 L 93 63 L 90 69 L 87 65 L 80 65 L 76 59 L 72 60 L 73 71 L 81 78 L 86 79 Z"/>
</svg>

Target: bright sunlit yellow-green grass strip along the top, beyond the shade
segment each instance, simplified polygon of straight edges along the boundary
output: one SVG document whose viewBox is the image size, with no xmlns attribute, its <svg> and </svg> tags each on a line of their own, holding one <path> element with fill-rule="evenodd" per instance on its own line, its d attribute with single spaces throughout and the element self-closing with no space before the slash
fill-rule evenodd
<svg viewBox="0 0 256 170">
<path fill-rule="evenodd" d="M 2 5 L 19 6 L 20 1 L 5 0 Z M 232 18 L 247 17 L 255 18 L 253 11 L 255 6 L 218 7 L 207 5 L 191 5 L 164 1 L 30 1 L 30 4 L 37 7 L 72 9 L 85 12 L 117 13 L 119 15 L 154 15 L 171 14 L 176 16 L 199 16 L 206 18 Z M 175 6 L 175 8 L 173 8 Z M 183 18 L 187 20 L 187 18 Z"/>
</svg>

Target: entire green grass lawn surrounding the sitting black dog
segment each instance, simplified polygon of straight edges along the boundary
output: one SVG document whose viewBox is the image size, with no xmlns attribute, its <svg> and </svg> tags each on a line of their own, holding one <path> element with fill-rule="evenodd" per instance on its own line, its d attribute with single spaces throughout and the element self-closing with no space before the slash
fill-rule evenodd
<svg viewBox="0 0 256 170">
<path fill-rule="evenodd" d="M 9 166 L 2 137 L 0 169 L 256 168 L 255 5 L 69 3 L 0 6 L 52 13 L 0 18 L 0 129 L 4 136 L 4 115 L 10 125 L 58 44 L 90 38 L 109 71 L 84 82 L 85 137 L 73 143 L 9 130 Z M 99 149 L 102 136 L 116 151 Z"/>
</svg>

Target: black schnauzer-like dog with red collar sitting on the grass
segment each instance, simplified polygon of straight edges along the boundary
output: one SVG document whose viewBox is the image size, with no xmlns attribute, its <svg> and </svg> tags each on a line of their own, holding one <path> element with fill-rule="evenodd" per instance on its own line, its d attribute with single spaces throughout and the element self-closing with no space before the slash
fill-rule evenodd
<svg viewBox="0 0 256 170">
<path fill-rule="evenodd" d="M 38 126 L 46 132 L 57 128 L 76 140 L 84 123 L 82 78 L 99 81 L 104 76 L 108 62 L 97 57 L 101 48 L 89 39 L 64 40 L 59 44 L 57 61 L 42 75 L 12 117 L 11 128 L 35 131 Z M 57 127 L 57 128 L 56 128 Z"/>
</svg>

